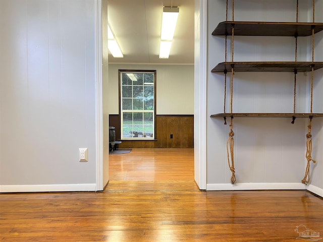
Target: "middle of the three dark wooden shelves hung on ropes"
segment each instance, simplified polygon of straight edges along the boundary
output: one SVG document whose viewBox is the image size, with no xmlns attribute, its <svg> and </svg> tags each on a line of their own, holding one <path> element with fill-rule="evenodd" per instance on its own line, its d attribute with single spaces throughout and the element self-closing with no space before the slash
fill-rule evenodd
<svg viewBox="0 0 323 242">
<path fill-rule="evenodd" d="M 234 65 L 235 72 L 310 72 L 323 67 L 323 62 L 222 62 L 211 72 L 231 72 Z"/>
</svg>

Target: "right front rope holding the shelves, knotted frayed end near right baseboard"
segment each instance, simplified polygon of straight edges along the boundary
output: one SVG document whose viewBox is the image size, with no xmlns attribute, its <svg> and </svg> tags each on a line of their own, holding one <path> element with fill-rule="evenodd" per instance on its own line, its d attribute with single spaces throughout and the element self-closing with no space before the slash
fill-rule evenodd
<svg viewBox="0 0 323 242">
<path fill-rule="evenodd" d="M 314 14 L 315 14 L 315 4 L 313 0 L 313 23 L 314 23 Z M 314 27 L 312 27 L 312 62 L 314 62 Z M 314 82 L 314 65 L 311 65 L 311 103 L 310 103 L 310 113 L 313 113 L 313 82 Z M 309 124 L 307 126 L 307 134 L 306 134 L 306 169 L 305 175 L 302 179 L 303 184 L 309 184 L 309 168 L 310 162 L 316 163 L 316 160 L 312 159 L 312 135 L 311 135 L 311 128 L 312 128 L 312 118 L 313 116 L 309 116 Z"/>
</svg>

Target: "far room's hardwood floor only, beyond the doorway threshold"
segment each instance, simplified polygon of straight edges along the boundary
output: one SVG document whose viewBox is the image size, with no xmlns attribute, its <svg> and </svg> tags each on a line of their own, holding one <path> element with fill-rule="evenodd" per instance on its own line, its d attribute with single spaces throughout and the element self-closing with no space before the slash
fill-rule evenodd
<svg viewBox="0 0 323 242">
<path fill-rule="evenodd" d="M 194 180 L 194 149 L 133 149 L 109 156 L 109 178 L 116 180 Z"/>
</svg>

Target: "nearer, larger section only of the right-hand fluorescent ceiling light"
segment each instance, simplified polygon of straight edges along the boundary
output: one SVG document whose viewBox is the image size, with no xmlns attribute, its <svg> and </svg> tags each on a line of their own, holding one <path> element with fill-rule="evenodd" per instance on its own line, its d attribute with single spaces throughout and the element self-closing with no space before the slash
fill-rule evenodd
<svg viewBox="0 0 323 242">
<path fill-rule="evenodd" d="M 173 40 L 177 17 L 180 12 L 178 7 L 163 8 L 163 21 L 161 22 L 161 40 Z"/>
</svg>

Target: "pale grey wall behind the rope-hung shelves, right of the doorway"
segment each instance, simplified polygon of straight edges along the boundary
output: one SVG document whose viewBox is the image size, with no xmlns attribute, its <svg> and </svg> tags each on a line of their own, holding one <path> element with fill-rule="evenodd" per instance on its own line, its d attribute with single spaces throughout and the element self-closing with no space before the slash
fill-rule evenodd
<svg viewBox="0 0 323 242">
<path fill-rule="evenodd" d="M 299 22 L 310 19 L 307 7 L 307 3 L 300 3 Z M 208 1 L 208 11 L 209 116 L 224 112 L 224 74 L 210 73 L 210 70 L 225 59 L 225 37 L 211 35 L 218 23 L 226 19 L 225 1 Z M 234 12 L 236 21 L 296 20 L 295 1 L 237 1 Z M 228 20 L 231 18 L 229 10 Z M 230 39 L 228 37 L 228 61 L 231 56 Z M 298 38 L 298 61 L 308 60 L 310 40 L 310 37 Z M 295 58 L 294 37 L 235 36 L 234 44 L 234 61 L 294 61 Z M 227 79 L 226 112 L 230 112 L 230 74 Z M 297 75 L 296 112 L 309 111 L 308 76 L 302 73 Z M 233 112 L 293 112 L 293 93 L 293 73 L 236 72 Z M 255 184 L 259 184 L 258 188 L 262 184 L 267 184 L 265 188 L 305 188 L 300 183 L 305 168 L 307 120 L 298 118 L 294 125 L 290 122 L 289 118 L 234 118 L 237 184 L 232 186 L 226 151 L 229 125 L 225 126 L 221 118 L 208 117 L 207 188 L 239 189 L 239 185 L 250 183 L 254 184 L 253 188 L 256 188 Z"/>
</svg>

